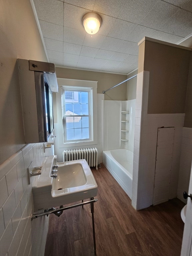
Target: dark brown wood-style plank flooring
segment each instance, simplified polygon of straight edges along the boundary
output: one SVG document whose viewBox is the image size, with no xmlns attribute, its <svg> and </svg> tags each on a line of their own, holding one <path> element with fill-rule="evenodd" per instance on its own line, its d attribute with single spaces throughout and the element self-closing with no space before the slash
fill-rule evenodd
<svg viewBox="0 0 192 256">
<path fill-rule="evenodd" d="M 97 256 L 180 256 L 183 202 L 175 198 L 136 211 L 104 165 L 91 170 L 98 185 Z M 94 256 L 90 204 L 50 215 L 45 256 Z"/>
</svg>

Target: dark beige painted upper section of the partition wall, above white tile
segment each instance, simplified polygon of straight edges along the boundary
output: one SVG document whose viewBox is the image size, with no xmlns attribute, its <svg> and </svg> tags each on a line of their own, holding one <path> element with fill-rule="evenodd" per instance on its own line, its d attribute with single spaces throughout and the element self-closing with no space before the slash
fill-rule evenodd
<svg viewBox="0 0 192 256">
<path fill-rule="evenodd" d="M 148 113 L 185 113 L 190 50 L 145 41 L 143 70 L 150 72 Z"/>
</svg>

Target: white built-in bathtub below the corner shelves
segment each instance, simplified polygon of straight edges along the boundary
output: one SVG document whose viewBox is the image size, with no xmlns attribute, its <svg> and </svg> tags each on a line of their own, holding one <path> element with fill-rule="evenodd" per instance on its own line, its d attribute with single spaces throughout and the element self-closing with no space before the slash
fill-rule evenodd
<svg viewBox="0 0 192 256">
<path fill-rule="evenodd" d="M 133 152 L 124 148 L 103 151 L 103 164 L 131 199 Z"/>
</svg>

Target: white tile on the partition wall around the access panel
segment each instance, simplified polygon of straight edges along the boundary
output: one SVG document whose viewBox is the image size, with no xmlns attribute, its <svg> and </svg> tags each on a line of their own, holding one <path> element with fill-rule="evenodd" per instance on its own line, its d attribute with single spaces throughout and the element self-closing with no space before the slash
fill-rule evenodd
<svg viewBox="0 0 192 256">
<path fill-rule="evenodd" d="M 137 210 L 153 204 L 157 131 L 158 127 L 162 126 L 175 127 L 169 199 L 177 196 L 181 138 L 184 123 L 184 114 L 147 114 L 148 86 L 149 72 L 140 72 L 137 75 L 137 109 L 135 120 L 135 124 L 140 126 L 140 133 L 139 127 L 137 127 L 134 140 L 134 154 L 139 154 L 139 158 L 134 162 L 133 169 L 133 179 L 137 184 L 137 188 L 134 188 L 137 190 L 137 197 L 132 197 L 132 205 Z M 142 104 L 140 103 L 141 101 Z M 166 182 L 167 170 L 163 169 L 163 171 L 165 174 L 164 181 Z M 159 195 L 160 192 L 159 190 Z"/>
</svg>

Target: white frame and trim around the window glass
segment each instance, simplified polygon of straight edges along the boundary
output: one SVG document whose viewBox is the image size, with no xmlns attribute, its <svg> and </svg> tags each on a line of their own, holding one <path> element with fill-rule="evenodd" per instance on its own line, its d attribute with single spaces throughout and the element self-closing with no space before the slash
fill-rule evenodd
<svg viewBox="0 0 192 256">
<path fill-rule="evenodd" d="M 56 94 L 56 103 L 57 103 L 57 129 L 58 129 L 58 139 L 59 147 L 83 147 L 89 145 L 97 144 L 97 82 L 96 81 L 87 81 L 87 80 L 76 80 L 76 79 L 66 79 L 66 78 L 57 78 L 58 85 L 60 86 L 59 93 Z M 92 132 L 91 138 L 86 140 L 79 141 L 69 141 L 65 142 L 64 140 L 64 130 L 63 130 L 63 104 L 62 104 L 62 86 L 76 87 L 77 91 L 81 90 L 83 87 L 88 87 L 92 89 Z M 78 89 L 79 87 L 79 89 Z"/>
</svg>

